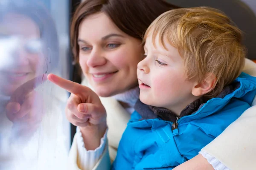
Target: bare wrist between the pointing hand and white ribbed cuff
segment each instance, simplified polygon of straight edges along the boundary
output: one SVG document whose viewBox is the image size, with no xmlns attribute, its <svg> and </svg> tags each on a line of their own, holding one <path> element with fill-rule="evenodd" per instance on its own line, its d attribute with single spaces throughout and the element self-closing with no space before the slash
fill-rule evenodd
<svg viewBox="0 0 256 170">
<path fill-rule="evenodd" d="M 90 125 L 87 127 L 79 128 L 84 139 L 84 147 L 86 150 L 95 150 L 100 146 L 101 139 L 107 129 L 107 123 L 102 122 L 99 125 Z"/>
</svg>

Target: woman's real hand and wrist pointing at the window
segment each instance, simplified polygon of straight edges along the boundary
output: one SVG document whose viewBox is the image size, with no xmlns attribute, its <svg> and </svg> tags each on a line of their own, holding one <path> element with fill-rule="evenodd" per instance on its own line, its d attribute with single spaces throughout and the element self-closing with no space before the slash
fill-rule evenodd
<svg viewBox="0 0 256 170">
<path fill-rule="evenodd" d="M 67 119 L 80 127 L 85 148 L 95 150 L 107 128 L 107 114 L 99 96 L 86 86 L 54 74 L 49 74 L 48 79 L 71 93 L 65 109 Z"/>
</svg>

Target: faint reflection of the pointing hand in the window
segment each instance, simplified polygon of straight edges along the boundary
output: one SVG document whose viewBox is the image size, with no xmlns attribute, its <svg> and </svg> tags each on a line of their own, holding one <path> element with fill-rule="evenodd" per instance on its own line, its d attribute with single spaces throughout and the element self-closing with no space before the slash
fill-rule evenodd
<svg viewBox="0 0 256 170">
<path fill-rule="evenodd" d="M 6 116 L 13 122 L 12 135 L 25 138 L 32 136 L 37 130 L 43 117 L 43 101 L 34 91 L 38 85 L 47 80 L 41 75 L 29 80 L 17 88 L 6 105 Z"/>
</svg>

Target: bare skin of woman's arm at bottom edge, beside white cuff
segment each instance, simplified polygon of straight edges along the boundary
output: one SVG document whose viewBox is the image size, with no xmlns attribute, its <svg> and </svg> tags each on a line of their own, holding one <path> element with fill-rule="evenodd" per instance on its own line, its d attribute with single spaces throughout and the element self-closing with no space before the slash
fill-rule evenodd
<svg viewBox="0 0 256 170">
<path fill-rule="evenodd" d="M 201 154 L 198 154 L 194 158 L 180 164 L 173 170 L 214 170 L 211 164 L 208 163 Z"/>
</svg>

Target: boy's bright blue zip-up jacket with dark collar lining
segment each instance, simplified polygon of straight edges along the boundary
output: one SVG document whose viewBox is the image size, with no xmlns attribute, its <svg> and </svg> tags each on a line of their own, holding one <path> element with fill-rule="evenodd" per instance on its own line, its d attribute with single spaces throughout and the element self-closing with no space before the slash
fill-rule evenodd
<svg viewBox="0 0 256 170">
<path fill-rule="evenodd" d="M 141 120 L 140 113 L 134 111 L 112 169 L 172 170 L 198 155 L 201 148 L 250 108 L 256 95 L 256 77 L 242 73 L 235 82 L 240 82 L 239 88 L 223 98 L 210 99 L 195 113 L 181 117 L 174 130 L 173 122 L 159 117 Z"/>
</svg>

